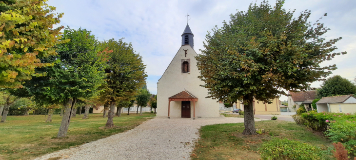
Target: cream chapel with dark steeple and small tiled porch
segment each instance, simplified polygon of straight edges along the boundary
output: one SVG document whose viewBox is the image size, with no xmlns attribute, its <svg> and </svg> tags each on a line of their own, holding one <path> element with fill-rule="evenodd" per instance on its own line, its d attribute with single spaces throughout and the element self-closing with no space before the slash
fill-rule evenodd
<svg viewBox="0 0 356 160">
<path fill-rule="evenodd" d="M 198 76 L 198 54 L 194 51 L 194 35 L 187 24 L 182 44 L 162 77 L 157 82 L 157 116 L 181 118 L 219 117 L 217 100 L 205 98 L 208 90 Z"/>
</svg>

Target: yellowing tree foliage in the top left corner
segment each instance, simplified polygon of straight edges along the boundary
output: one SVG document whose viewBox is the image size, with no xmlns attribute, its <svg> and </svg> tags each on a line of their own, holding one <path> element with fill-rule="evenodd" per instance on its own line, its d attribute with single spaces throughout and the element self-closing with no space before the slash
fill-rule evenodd
<svg viewBox="0 0 356 160">
<path fill-rule="evenodd" d="M 56 7 L 47 0 L 0 1 L 0 87 L 19 88 L 24 80 L 42 76 L 35 68 L 53 64 L 41 58 L 56 55 L 60 40 L 59 24 L 63 13 L 52 13 Z"/>
</svg>

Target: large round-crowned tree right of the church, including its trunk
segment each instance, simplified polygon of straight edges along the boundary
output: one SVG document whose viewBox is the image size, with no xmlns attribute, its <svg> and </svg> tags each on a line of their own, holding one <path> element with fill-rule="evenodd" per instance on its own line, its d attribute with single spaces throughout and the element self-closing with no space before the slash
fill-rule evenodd
<svg viewBox="0 0 356 160">
<path fill-rule="evenodd" d="M 207 34 L 205 50 L 196 58 L 207 98 L 243 100 L 245 135 L 256 134 L 254 98 L 271 103 L 286 95 L 282 89 L 308 90 L 311 82 L 323 80 L 336 69 L 336 65 L 320 67 L 322 61 L 346 54 L 331 53 L 341 38 L 320 38 L 329 29 L 308 22 L 310 11 L 293 18 L 295 11 L 286 11 L 283 3 L 277 0 L 273 7 L 263 1 L 231 15 L 221 29 L 215 27 Z"/>
</svg>

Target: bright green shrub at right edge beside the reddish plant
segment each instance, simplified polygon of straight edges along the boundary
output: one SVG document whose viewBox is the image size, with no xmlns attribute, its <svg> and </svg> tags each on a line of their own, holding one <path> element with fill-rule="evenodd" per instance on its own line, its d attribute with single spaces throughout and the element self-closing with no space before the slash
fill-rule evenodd
<svg viewBox="0 0 356 160">
<path fill-rule="evenodd" d="M 356 117 L 356 116 L 355 116 Z M 356 118 L 354 120 L 336 120 L 329 123 L 330 128 L 326 133 L 333 142 L 345 145 L 350 155 L 356 156 Z"/>
</svg>

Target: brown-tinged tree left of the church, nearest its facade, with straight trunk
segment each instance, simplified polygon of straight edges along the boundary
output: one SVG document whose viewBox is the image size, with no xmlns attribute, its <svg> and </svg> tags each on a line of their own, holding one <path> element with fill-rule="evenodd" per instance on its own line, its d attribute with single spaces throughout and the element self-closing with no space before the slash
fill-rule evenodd
<svg viewBox="0 0 356 160">
<path fill-rule="evenodd" d="M 142 87 L 147 75 L 142 57 L 135 53 L 131 43 L 125 43 L 122 39 L 111 39 L 104 41 L 102 46 L 112 51 L 105 70 L 105 92 L 101 94 L 102 101 L 110 106 L 105 127 L 111 128 L 114 126 L 116 102 L 129 100 L 137 95 L 137 90 Z"/>
</svg>

